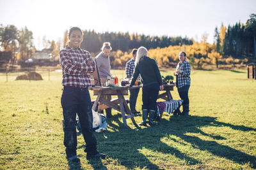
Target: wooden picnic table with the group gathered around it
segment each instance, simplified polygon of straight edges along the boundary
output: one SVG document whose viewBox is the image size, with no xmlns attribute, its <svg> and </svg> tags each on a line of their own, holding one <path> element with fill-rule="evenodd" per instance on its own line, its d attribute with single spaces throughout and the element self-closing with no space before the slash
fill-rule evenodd
<svg viewBox="0 0 256 170">
<path fill-rule="evenodd" d="M 162 98 L 165 100 L 171 100 L 172 94 L 170 93 L 170 90 L 173 90 L 173 87 L 175 84 L 170 85 L 164 85 L 164 93 L 159 94 L 158 98 Z M 90 90 L 93 90 L 93 95 L 97 96 L 95 102 L 93 103 L 92 109 L 94 111 L 99 111 L 99 107 L 101 105 L 100 110 L 103 110 L 104 108 L 113 108 L 117 111 L 120 111 L 122 113 L 122 119 L 124 122 L 124 126 L 127 126 L 126 119 L 131 118 L 132 123 L 134 125 L 137 125 L 134 120 L 134 114 L 131 113 L 131 110 L 127 104 L 127 100 L 124 98 L 124 96 L 128 95 L 129 89 L 140 89 L 141 86 L 134 85 L 132 87 L 122 86 L 122 87 L 90 87 Z M 160 91 L 161 92 L 161 91 Z M 118 96 L 117 99 L 111 99 L 111 97 L 106 96 Z M 119 104 L 119 105 L 118 105 Z M 127 115 L 125 115 L 125 113 Z"/>
</svg>

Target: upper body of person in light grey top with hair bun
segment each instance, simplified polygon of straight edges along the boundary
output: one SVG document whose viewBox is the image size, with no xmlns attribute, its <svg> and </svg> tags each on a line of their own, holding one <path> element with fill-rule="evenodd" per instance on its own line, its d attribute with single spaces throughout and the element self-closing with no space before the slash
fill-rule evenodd
<svg viewBox="0 0 256 170">
<path fill-rule="evenodd" d="M 108 76 L 111 77 L 109 53 L 112 50 L 112 48 L 110 46 L 110 43 L 109 42 L 103 43 L 101 50 L 102 52 L 100 52 L 95 57 L 95 59 L 97 62 L 100 78 L 108 78 Z"/>
</svg>

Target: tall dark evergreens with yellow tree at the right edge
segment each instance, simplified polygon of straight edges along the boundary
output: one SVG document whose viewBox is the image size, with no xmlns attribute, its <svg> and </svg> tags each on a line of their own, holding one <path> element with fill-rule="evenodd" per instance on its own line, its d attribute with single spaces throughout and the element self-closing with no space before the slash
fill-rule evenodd
<svg viewBox="0 0 256 170">
<path fill-rule="evenodd" d="M 256 57 L 256 14 L 251 14 L 245 24 L 237 22 L 215 29 L 216 52 L 233 57 Z"/>
</svg>

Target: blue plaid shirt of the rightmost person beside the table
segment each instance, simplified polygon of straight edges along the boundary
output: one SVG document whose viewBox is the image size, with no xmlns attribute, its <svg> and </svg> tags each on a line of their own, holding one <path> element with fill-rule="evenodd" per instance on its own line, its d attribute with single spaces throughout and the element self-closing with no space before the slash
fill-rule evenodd
<svg viewBox="0 0 256 170">
<path fill-rule="evenodd" d="M 185 85 L 190 85 L 190 64 L 188 61 L 179 62 L 176 67 L 176 71 L 179 70 L 180 73 L 176 77 L 178 83 L 176 84 L 178 88 L 184 87 Z"/>
</svg>

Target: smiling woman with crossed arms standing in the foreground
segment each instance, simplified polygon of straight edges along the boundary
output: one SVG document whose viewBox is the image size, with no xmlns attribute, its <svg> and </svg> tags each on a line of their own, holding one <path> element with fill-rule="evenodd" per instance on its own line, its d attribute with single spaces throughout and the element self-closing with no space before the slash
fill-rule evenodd
<svg viewBox="0 0 256 170">
<path fill-rule="evenodd" d="M 86 158 L 105 158 L 106 155 L 97 151 L 97 140 L 92 129 L 92 102 L 88 87 L 90 73 L 95 71 L 95 62 L 86 50 L 80 47 L 83 32 L 79 27 L 72 27 L 68 32 L 68 45 L 60 51 L 60 65 L 63 74 L 63 92 L 61 106 L 64 118 L 64 145 L 67 159 L 79 162 L 77 157 L 76 113 L 81 123 L 84 141 L 86 142 Z"/>
</svg>

